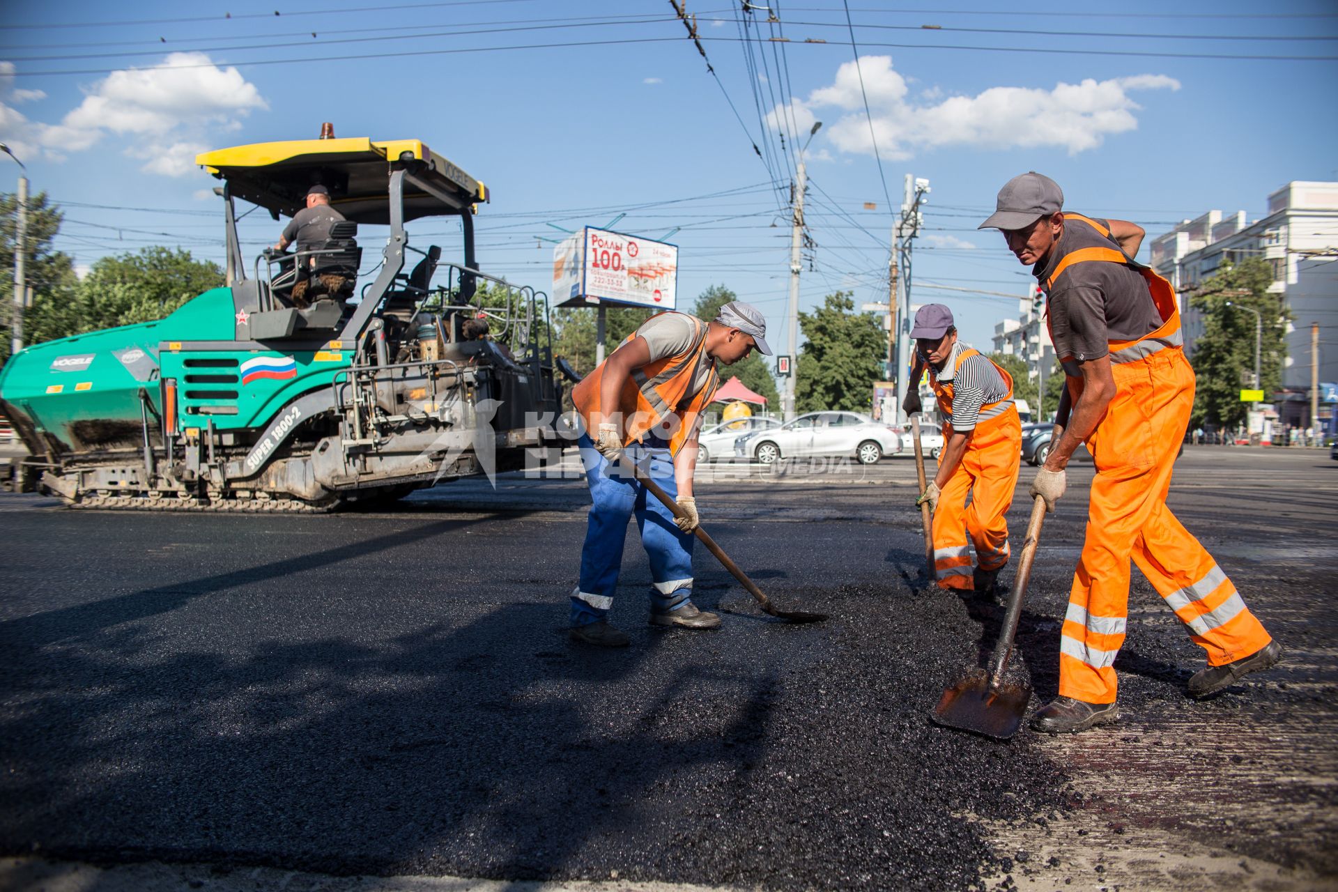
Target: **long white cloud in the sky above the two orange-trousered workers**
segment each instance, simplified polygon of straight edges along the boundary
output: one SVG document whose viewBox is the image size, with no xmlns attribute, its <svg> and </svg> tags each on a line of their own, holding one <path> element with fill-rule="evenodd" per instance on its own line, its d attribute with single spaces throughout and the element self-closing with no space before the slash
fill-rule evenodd
<svg viewBox="0 0 1338 892">
<path fill-rule="evenodd" d="M 1140 107 L 1129 96 L 1132 91 L 1180 88 L 1177 80 L 1165 75 L 1136 75 L 1111 80 L 1088 78 L 1076 84 L 1058 83 L 1053 90 L 991 87 L 975 96 L 943 98 L 931 87 L 913 99 L 907 80 L 892 67 L 891 56 L 864 56 L 858 68 L 854 62 L 842 64 L 835 80 L 812 91 L 808 99 L 791 99 L 788 114 L 808 122 L 823 116 L 830 120 L 832 115 L 824 115 L 823 110 L 838 110 L 827 138 L 836 148 L 855 154 L 874 151 L 871 118 L 879 154 L 890 160 L 938 146 L 1049 146 L 1076 155 L 1096 148 L 1108 135 L 1137 128 L 1133 112 Z M 780 123 L 784 111 L 784 106 L 777 106 L 768 115 L 772 127 Z"/>
</svg>

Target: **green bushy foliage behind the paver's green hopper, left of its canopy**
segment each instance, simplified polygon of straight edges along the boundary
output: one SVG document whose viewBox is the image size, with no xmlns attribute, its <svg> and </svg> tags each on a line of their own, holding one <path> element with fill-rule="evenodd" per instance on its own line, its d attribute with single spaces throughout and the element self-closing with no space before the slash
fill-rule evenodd
<svg viewBox="0 0 1338 892">
<path fill-rule="evenodd" d="M 40 344 L 116 325 L 161 320 L 223 284 L 223 271 L 190 251 L 143 247 L 103 257 L 74 288 L 40 294 L 24 317 L 24 340 Z"/>
</svg>

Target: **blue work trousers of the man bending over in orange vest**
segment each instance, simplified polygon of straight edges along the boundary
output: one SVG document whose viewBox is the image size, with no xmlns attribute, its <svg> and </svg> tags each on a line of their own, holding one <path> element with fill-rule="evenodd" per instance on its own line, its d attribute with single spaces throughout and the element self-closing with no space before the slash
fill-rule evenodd
<svg viewBox="0 0 1338 892">
<path fill-rule="evenodd" d="M 650 603 L 664 612 L 681 607 L 692 595 L 692 543 L 696 536 L 674 526 L 673 512 L 632 477 L 611 473 L 613 468 L 587 435 L 579 440 L 581 461 L 590 487 L 590 518 L 585 546 L 581 550 L 581 580 L 571 592 L 571 625 L 603 619 L 613 607 L 622 568 L 622 546 L 628 520 L 637 519 L 641 544 L 650 560 Z M 674 496 L 678 489 L 673 476 L 669 445 L 648 439 L 633 443 L 626 456 L 642 467 L 650 457 L 650 477 Z"/>
</svg>

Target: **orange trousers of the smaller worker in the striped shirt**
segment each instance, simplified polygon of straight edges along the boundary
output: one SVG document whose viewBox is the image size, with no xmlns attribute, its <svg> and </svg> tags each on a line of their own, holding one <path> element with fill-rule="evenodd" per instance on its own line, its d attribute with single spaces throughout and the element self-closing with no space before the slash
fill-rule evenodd
<svg viewBox="0 0 1338 892">
<path fill-rule="evenodd" d="M 945 449 L 950 435 L 951 428 L 946 428 Z M 975 425 L 962 463 L 947 479 L 934 510 L 934 575 L 941 588 L 973 587 L 967 540 L 975 546 L 981 570 L 1008 563 L 1005 515 L 1013 504 L 1021 463 L 1022 423 L 1016 408 Z"/>
</svg>

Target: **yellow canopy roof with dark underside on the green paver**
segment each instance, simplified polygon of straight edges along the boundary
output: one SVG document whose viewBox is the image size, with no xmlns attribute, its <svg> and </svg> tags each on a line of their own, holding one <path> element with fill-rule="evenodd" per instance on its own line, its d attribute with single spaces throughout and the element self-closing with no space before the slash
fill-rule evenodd
<svg viewBox="0 0 1338 892">
<path fill-rule="evenodd" d="M 330 203 L 357 223 L 389 222 L 389 171 L 395 162 L 407 162 L 420 181 L 405 179 L 407 221 L 459 214 L 488 199 L 483 183 L 417 139 L 294 139 L 215 148 L 195 156 L 197 164 L 227 181 L 234 197 L 270 213 L 292 217 L 306 206 L 306 190 L 320 183 L 330 190 Z"/>
</svg>

